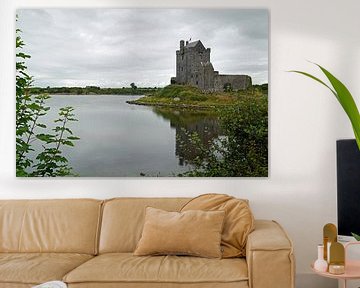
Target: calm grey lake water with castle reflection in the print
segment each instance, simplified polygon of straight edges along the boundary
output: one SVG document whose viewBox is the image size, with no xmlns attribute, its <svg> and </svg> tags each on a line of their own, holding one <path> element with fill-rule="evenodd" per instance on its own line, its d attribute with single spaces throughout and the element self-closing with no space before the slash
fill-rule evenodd
<svg viewBox="0 0 360 288">
<path fill-rule="evenodd" d="M 197 132 L 208 143 L 219 135 L 217 116 L 126 103 L 139 97 L 53 95 L 42 122 L 53 127 L 60 107 L 75 108 L 79 121 L 69 127 L 81 139 L 63 152 L 79 176 L 176 176 L 191 169 L 196 153 L 186 134 Z"/>
</svg>

